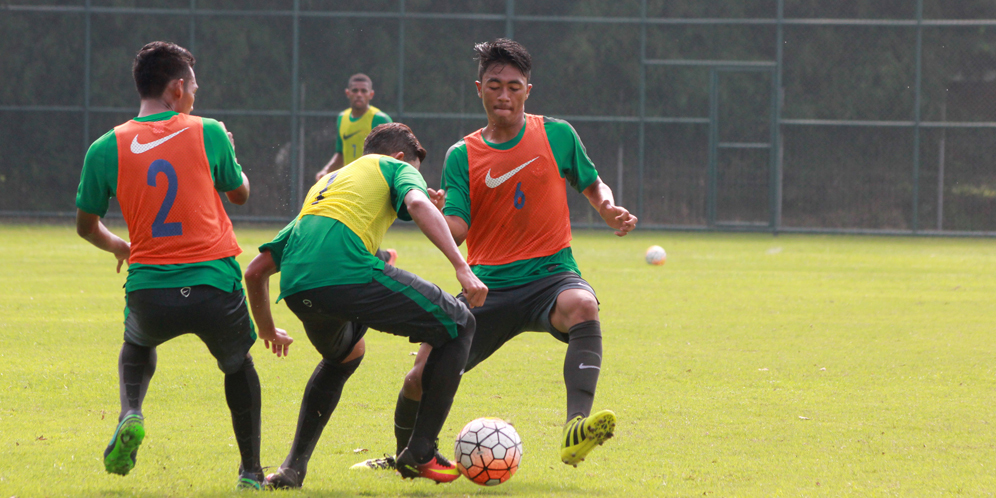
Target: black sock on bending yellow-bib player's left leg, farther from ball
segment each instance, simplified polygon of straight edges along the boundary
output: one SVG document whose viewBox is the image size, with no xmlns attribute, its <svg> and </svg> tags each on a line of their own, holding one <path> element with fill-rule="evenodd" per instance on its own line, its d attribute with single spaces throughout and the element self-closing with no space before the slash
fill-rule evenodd
<svg viewBox="0 0 996 498">
<path fill-rule="evenodd" d="M 331 363 L 326 360 L 318 362 L 315 373 L 304 388 L 304 400 L 301 402 L 301 412 L 297 418 L 297 431 L 291 452 L 284 460 L 283 467 L 290 467 L 298 473 L 298 484 L 304 482 L 308 473 L 308 460 L 315 451 L 315 445 L 322 436 L 322 430 L 328 423 L 332 412 L 339 404 L 342 396 L 342 386 L 360 366 L 363 357 L 347 363 Z"/>
</svg>

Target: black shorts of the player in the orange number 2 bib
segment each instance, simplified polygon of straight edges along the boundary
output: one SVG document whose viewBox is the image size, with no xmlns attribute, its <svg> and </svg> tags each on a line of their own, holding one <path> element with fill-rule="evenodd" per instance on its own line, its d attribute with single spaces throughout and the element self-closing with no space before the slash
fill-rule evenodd
<svg viewBox="0 0 996 498">
<path fill-rule="evenodd" d="M 154 348 L 174 337 L 195 334 L 218 360 L 222 372 L 242 367 L 256 341 L 246 296 L 210 285 L 129 292 L 125 342 Z"/>
</svg>

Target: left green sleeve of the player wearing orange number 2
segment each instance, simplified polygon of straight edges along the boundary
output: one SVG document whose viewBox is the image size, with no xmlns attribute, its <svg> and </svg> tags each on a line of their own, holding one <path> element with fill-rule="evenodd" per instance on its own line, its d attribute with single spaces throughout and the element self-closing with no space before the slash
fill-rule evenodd
<svg viewBox="0 0 996 498">
<path fill-rule="evenodd" d="M 118 188 L 118 141 L 114 130 L 98 138 L 86 152 L 80 185 L 76 189 L 76 207 L 103 217 L 108 201 Z"/>
</svg>

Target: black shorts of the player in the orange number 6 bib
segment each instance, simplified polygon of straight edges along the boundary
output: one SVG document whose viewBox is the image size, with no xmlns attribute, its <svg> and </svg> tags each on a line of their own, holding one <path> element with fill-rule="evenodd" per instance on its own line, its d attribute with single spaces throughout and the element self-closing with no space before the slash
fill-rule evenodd
<svg viewBox="0 0 996 498">
<path fill-rule="evenodd" d="M 489 290 L 484 306 L 470 310 L 477 319 L 477 330 L 464 370 L 470 371 L 523 332 L 548 332 L 566 343 L 568 335 L 553 328 L 550 312 L 557 304 L 560 293 L 568 289 L 584 289 L 595 295 L 595 289 L 574 272 L 557 273 L 528 284 Z M 462 294 L 459 298 L 462 302 L 466 301 Z"/>
</svg>

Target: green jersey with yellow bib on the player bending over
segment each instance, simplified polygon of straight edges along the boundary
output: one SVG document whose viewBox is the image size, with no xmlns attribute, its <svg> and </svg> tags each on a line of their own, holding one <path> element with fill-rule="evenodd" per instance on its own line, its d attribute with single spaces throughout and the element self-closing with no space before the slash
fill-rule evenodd
<svg viewBox="0 0 996 498">
<path fill-rule="evenodd" d="M 280 270 L 279 302 L 332 285 L 365 284 L 383 270 L 374 255 L 396 218 L 410 221 L 405 196 L 425 180 L 412 165 L 368 154 L 325 175 L 312 187 L 301 215 L 260 246 Z M 364 228 L 365 227 L 365 228 Z"/>
</svg>

